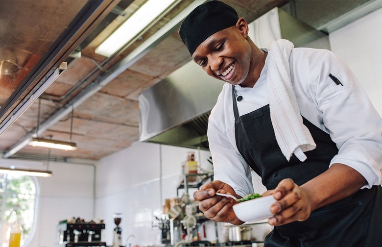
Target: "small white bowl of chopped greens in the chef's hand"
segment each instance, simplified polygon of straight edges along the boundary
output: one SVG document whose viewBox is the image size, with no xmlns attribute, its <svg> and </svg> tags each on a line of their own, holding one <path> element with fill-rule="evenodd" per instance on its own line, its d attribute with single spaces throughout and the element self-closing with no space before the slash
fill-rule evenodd
<svg viewBox="0 0 382 247">
<path fill-rule="evenodd" d="M 255 222 L 271 218 L 270 206 L 276 201 L 273 195 L 243 201 L 233 206 L 238 219 L 243 222 Z"/>
</svg>

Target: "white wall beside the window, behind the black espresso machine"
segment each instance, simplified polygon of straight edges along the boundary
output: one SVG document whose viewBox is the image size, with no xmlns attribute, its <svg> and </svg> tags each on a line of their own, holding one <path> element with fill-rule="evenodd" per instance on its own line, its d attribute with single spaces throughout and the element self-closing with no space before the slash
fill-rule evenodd
<svg viewBox="0 0 382 247">
<path fill-rule="evenodd" d="M 47 170 L 47 162 L 0 159 L 0 166 Z M 93 219 L 94 165 L 49 162 L 51 177 L 36 177 L 35 233 L 28 247 L 54 247 L 56 226 L 70 217 Z"/>
</svg>

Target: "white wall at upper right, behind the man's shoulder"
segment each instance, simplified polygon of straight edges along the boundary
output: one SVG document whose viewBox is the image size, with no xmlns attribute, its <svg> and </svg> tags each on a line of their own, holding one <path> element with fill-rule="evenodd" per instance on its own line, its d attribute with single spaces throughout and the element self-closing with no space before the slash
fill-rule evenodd
<svg viewBox="0 0 382 247">
<path fill-rule="evenodd" d="M 329 35 L 331 49 L 353 70 L 382 116 L 382 8 Z"/>
</svg>

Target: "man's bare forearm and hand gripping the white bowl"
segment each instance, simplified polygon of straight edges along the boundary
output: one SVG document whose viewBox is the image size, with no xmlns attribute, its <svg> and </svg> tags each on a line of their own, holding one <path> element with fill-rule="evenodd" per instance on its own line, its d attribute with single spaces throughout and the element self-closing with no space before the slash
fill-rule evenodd
<svg viewBox="0 0 382 247">
<path fill-rule="evenodd" d="M 277 200 L 270 207 L 275 216 L 268 223 L 283 225 L 305 221 L 312 211 L 356 193 L 365 184 L 366 179 L 360 173 L 339 163 L 301 186 L 290 178 L 283 179 L 276 189 L 263 194 L 273 194 Z"/>
</svg>

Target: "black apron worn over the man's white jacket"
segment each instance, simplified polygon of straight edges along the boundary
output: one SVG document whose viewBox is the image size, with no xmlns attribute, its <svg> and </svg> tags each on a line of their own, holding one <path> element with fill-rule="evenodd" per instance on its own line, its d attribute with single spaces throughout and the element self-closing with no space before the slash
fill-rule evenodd
<svg viewBox="0 0 382 247">
<path fill-rule="evenodd" d="M 317 147 L 305 152 L 304 162 L 294 155 L 288 162 L 276 141 L 269 104 L 239 117 L 234 86 L 232 97 L 236 145 L 268 190 L 275 189 L 284 178 L 291 178 L 300 186 L 329 168 L 338 152 L 329 134 L 303 118 Z M 381 186 L 373 186 L 313 211 L 304 222 L 274 227 L 264 246 L 378 247 L 382 246 L 381 225 Z"/>
</svg>

